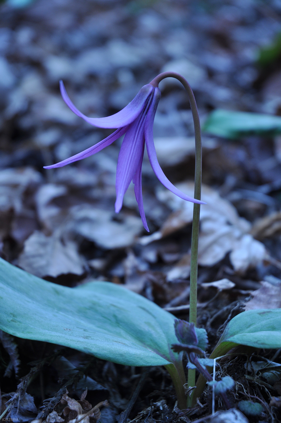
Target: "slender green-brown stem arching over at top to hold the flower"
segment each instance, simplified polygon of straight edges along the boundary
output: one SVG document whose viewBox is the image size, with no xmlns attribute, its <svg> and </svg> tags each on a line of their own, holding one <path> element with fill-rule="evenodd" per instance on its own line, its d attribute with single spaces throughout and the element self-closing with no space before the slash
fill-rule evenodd
<svg viewBox="0 0 281 423">
<path fill-rule="evenodd" d="M 163 72 L 159 74 L 151 85 L 158 87 L 160 81 L 167 77 L 174 77 L 179 80 L 185 87 L 187 92 L 190 108 L 194 123 L 195 132 L 195 180 L 194 180 L 194 198 L 201 200 L 201 179 L 202 179 L 202 144 L 201 129 L 198 109 L 193 91 L 182 75 L 176 72 Z M 193 205 L 193 223 L 191 236 L 191 263 L 190 263 L 190 309 L 189 321 L 196 325 L 197 323 L 197 271 L 198 271 L 198 238 L 199 238 L 199 222 L 200 222 L 200 204 Z M 188 369 L 188 386 L 195 386 L 195 369 Z M 194 395 L 192 395 L 194 397 Z M 189 405 L 189 404 L 188 404 Z"/>
</svg>

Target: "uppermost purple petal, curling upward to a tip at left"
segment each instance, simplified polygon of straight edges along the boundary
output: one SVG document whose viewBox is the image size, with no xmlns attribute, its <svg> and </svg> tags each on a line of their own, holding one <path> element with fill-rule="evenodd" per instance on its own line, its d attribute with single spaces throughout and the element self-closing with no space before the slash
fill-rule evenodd
<svg viewBox="0 0 281 423">
<path fill-rule="evenodd" d="M 80 118 L 83 118 L 86 122 L 97 126 L 98 128 L 121 128 L 121 126 L 127 126 L 131 124 L 133 121 L 135 121 L 138 115 L 140 115 L 146 105 L 146 100 L 154 90 L 152 85 L 144 85 L 135 96 L 135 98 L 132 99 L 132 101 L 126 107 L 124 107 L 124 109 L 120 110 L 120 112 L 105 118 L 88 118 L 83 113 L 81 113 L 77 107 L 74 106 L 68 94 L 66 93 L 66 89 L 64 88 L 62 81 L 60 81 L 60 88 L 62 98 L 68 105 L 69 109 L 72 110 L 75 115 L 80 116 Z"/>
</svg>

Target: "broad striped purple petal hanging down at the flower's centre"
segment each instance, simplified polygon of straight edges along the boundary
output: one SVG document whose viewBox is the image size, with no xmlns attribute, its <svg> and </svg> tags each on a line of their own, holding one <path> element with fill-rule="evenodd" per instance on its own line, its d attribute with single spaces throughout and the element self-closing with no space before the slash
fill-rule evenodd
<svg viewBox="0 0 281 423">
<path fill-rule="evenodd" d="M 142 160 L 144 148 L 144 119 L 145 115 L 141 115 L 135 122 L 129 125 L 120 148 L 116 169 L 116 213 L 119 213 L 121 210 L 124 194 L 136 173 L 138 164 Z"/>
</svg>

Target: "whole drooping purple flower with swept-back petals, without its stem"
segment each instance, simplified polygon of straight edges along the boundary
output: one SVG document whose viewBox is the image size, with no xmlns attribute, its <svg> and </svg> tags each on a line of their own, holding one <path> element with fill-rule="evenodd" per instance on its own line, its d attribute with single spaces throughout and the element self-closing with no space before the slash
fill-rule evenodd
<svg viewBox="0 0 281 423">
<path fill-rule="evenodd" d="M 92 154 L 101 151 L 102 148 L 109 146 L 113 143 L 113 141 L 117 140 L 126 133 L 120 148 L 117 162 L 116 213 L 121 210 L 124 194 L 127 191 L 130 182 L 133 181 L 135 184 L 135 198 L 138 202 L 141 220 L 143 222 L 143 226 L 146 228 L 146 231 L 149 231 L 143 210 L 143 196 L 141 190 L 141 167 L 145 144 L 150 164 L 160 182 L 162 182 L 168 190 L 174 192 L 174 194 L 184 200 L 198 204 L 205 204 L 203 201 L 188 197 L 188 195 L 185 195 L 183 192 L 174 187 L 174 185 L 164 175 L 163 170 L 160 168 L 157 161 L 153 141 L 153 121 L 161 96 L 160 89 L 158 87 L 154 87 L 152 84 L 144 85 L 135 98 L 126 107 L 124 107 L 124 109 L 115 113 L 115 115 L 107 116 L 105 118 L 88 118 L 83 115 L 83 113 L 81 113 L 69 99 L 62 81 L 60 81 L 60 88 L 63 100 L 77 116 L 80 116 L 86 122 L 97 126 L 98 128 L 118 129 L 104 140 L 99 141 L 99 143 L 95 144 L 93 147 L 87 148 L 81 153 L 75 154 L 74 156 L 69 157 L 69 159 L 65 159 L 55 165 L 44 166 L 45 169 L 60 168 L 61 166 L 76 162 L 77 160 L 85 159 L 85 157 L 89 157 Z"/>
</svg>

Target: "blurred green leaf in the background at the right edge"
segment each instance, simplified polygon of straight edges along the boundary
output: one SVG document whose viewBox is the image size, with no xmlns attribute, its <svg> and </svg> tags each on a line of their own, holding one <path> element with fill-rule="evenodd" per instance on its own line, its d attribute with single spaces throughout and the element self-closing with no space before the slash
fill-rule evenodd
<svg viewBox="0 0 281 423">
<path fill-rule="evenodd" d="M 281 133 L 281 117 L 218 109 L 210 113 L 203 129 L 231 139 L 251 134 L 275 135 Z"/>
</svg>

